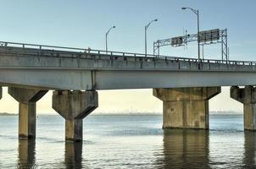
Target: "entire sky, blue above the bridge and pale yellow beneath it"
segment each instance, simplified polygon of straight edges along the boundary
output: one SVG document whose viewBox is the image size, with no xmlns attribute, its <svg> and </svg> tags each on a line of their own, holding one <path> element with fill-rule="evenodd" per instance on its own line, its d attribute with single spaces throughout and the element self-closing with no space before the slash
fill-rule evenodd
<svg viewBox="0 0 256 169">
<path fill-rule="evenodd" d="M 109 51 L 144 52 L 144 26 L 147 30 L 147 53 L 153 52 L 153 41 L 183 35 L 184 30 L 197 32 L 197 17 L 191 7 L 199 10 L 200 30 L 228 30 L 231 60 L 252 60 L 256 41 L 256 1 L 233 0 L 0 0 L 0 41 L 45 44 L 53 46 L 90 47 L 104 50 L 105 33 L 109 33 Z M 186 48 L 164 46 L 161 54 L 197 57 L 197 43 Z M 206 46 L 204 57 L 220 59 L 220 44 Z M 37 112 L 55 113 L 49 91 L 38 101 Z M 211 111 L 242 111 L 242 104 L 231 100 L 229 88 L 209 101 Z M 0 112 L 17 112 L 18 103 L 3 88 Z M 152 90 L 99 91 L 96 112 L 162 112 L 162 101 Z"/>
</svg>

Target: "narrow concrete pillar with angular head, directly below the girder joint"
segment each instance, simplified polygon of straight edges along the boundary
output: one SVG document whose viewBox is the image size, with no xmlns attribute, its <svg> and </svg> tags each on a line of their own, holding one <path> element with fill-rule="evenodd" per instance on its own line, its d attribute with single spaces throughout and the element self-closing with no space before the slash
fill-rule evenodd
<svg viewBox="0 0 256 169">
<path fill-rule="evenodd" d="M 65 139 L 82 140 L 82 119 L 97 108 L 97 91 L 53 91 L 53 109 L 65 119 Z"/>
</svg>

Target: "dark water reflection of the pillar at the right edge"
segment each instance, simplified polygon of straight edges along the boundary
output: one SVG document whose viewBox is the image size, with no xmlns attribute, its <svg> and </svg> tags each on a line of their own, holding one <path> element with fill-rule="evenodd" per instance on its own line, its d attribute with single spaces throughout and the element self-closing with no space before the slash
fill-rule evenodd
<svg viewBox="0 0 256 169">
<path fill-rule="evenodd" d="M 246 168 L 255 168 L 256 164 L 256 133 L 244 132 L 244 155 L 243 164 Z M 254 166 L 254 167 L 253 167 Z"/>
</svg>

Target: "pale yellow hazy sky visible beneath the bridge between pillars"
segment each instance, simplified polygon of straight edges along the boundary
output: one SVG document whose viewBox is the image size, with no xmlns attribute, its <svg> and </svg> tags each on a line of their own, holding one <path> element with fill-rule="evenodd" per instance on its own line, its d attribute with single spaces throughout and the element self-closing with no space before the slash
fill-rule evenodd
<svg viewBox="0 0 256 169">
<path fill-rule="evenodd" d="M 242 103 L 229 96 L 229 87 L 209 100 L 209 112 L 242 112 Z M 94 113 L 163 112 L 163 101 L 153 96 L 152 90 L 98 90 L 99 106 Z M 3 87 L 0 112 L 15 113 L 19 103 Z M 58 114 L 52 108 L 52 90 L 36 102 L 37 114 Z"/>
</svg>

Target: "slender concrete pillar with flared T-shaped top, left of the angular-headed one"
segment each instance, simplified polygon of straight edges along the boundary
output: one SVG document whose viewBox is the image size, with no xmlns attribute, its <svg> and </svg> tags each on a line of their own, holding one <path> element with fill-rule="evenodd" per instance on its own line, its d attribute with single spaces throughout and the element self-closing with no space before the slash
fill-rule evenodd
<svg viewBox="0 0 256 169">
<path fill-rule="evenodd" d="M 36 101 L 47 90 L 8 87 L 8 94 L 19 101 L 19 138 L 36 138 Z"/>
</svg>

